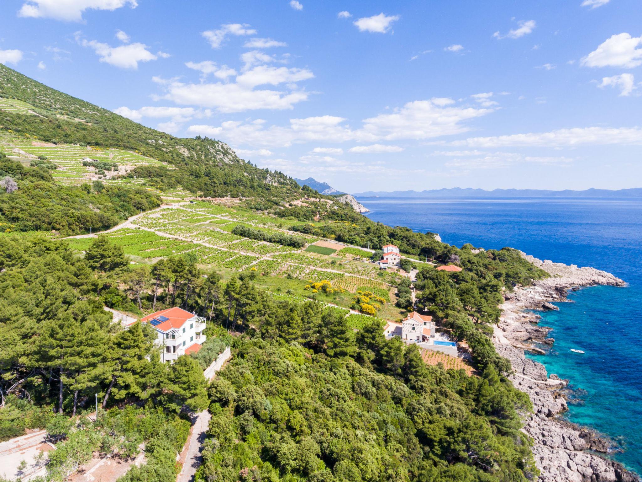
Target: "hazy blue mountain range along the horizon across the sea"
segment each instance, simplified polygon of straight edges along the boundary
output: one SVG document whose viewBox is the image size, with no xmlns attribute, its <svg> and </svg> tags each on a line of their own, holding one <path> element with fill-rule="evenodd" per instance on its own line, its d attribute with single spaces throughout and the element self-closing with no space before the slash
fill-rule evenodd
<svg viewBox="0 0 642 482">
<path fill-rule="evenodd" d="M 299 180 L 297 179 L 297 182 Z M 299 183 L 300 184 L 300 183 Z M 325 184 L 325 183 L 324 183 Z M 327 184 L 325 184 L 327 186 Z M 366 191 L 354 193 L 356 197 L 642 197 L 642 188 L 587 189 L 584 191 L 551 191 L 544 189 L 494 189 L 486 191 L 473 188 L 431 189 L 424 191 Z"/>
</svg>

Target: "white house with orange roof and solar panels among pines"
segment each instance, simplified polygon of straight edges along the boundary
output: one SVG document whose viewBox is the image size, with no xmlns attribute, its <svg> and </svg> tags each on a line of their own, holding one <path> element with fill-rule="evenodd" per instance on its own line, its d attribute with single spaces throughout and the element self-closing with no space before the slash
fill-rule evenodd
<svg viewBox="0 0 642 482">
<path fill-rule="evenodd" d="M 205 341 L 205 318 L 182 308 L 157 311 L 141 318 L 141 322 L 149 323 L 156 330 L 163 362 L 173 362 L 180 355 L 198 352 Z"/>
</svg>

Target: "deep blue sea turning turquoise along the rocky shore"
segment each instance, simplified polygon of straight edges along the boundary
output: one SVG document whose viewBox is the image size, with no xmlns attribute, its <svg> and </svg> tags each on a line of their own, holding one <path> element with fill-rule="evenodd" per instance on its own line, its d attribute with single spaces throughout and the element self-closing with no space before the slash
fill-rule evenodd
<svg viewBox="0 0 642 482">
<path fill-rule="evenodd" d="M 555 344 L 533 358 L 570 380 L 566 417 L 609 436 L 613 457 L 642 474 L 642 201 L 614 199 L 358 198 L 370 219 L 439 233 L 461 246 L 521 249 L 542 260 L 593 266 L 628 287 L 571 292 L 542 312 Z M 586 353 L 570 352 L 571 348 Z"/>
</svg>

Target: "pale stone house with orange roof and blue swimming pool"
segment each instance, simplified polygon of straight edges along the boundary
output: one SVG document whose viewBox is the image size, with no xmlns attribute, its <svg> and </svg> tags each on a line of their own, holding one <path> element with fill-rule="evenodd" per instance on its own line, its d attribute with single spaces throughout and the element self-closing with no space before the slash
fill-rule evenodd
<svg viewBox="0 0 642 482">
<path fill-rule="evenodd" d="M 413 311 L 401 323 L 388 321 L 383 327 L 383 335 L 390 339 L 399 337 L 408 344 L 417 344 L 426 350 L 457 355 L 457 343 L 437 334 L 433 317 Z"/>
</svg>

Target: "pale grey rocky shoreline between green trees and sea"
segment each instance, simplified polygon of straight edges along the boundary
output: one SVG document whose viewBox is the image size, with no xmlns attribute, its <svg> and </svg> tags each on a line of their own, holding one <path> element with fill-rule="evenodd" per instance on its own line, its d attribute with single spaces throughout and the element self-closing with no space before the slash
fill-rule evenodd
<svg viewBox="0 0 642 482">
<path fill-rule="evenodd" d="M 510 380 L 527 393 L 534 413 L 525 418 L 523 430 L 534 438 L 533 454 L 541 482 L 633 482 L 636 474 L 620 463 L 603 458 L 611 444 L 599 434 L 563 420 L 558 415 L 568 408 L 562 389 L 568 380 L 546 373 L 541 363 L 527 359 L 525 350 L 542 352 L 535 343 L 552 344 L 550 328 L 538 325 L 539 315 L 526 310 L 557 309 L 551 301 L 564 301 L 568 291 L 594 285 L 624 286 L 625 282 L 610 273 L 591 267 L 564 265 L 521 253 L 548 272 L 551 277 L 535 281 L 529 287 L 517 287 L 505 294 L 503 314 L 495 328 L 493 343 L 497 352 L 510 360 L 514 373 Z"/>
</svg>

